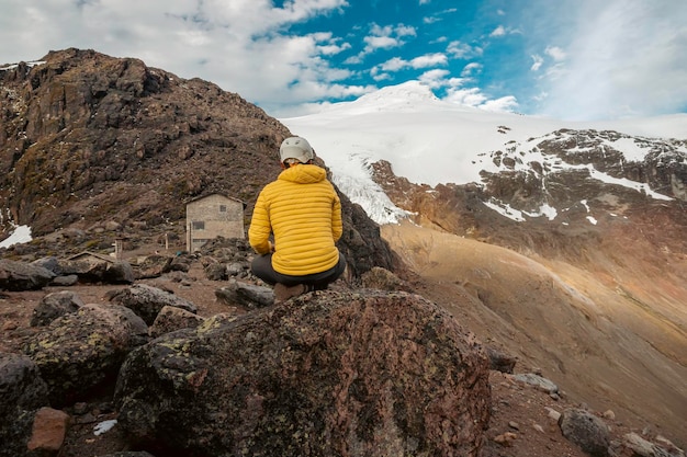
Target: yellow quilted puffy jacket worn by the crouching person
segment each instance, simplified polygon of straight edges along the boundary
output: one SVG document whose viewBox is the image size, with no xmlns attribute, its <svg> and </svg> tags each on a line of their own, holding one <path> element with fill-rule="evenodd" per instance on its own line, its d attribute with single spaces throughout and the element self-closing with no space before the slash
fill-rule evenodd
<svg viewBox="0 0 687 457">
<path fill-rule="evenodd" d="M 322 273 L 339 261 L 341 201 L 324 169 L 295 164 L 262 188 L 252 212 L 248 240 L 259 254 L 271 250 L 272 267 L 292 276 Z"/>
</svg>

